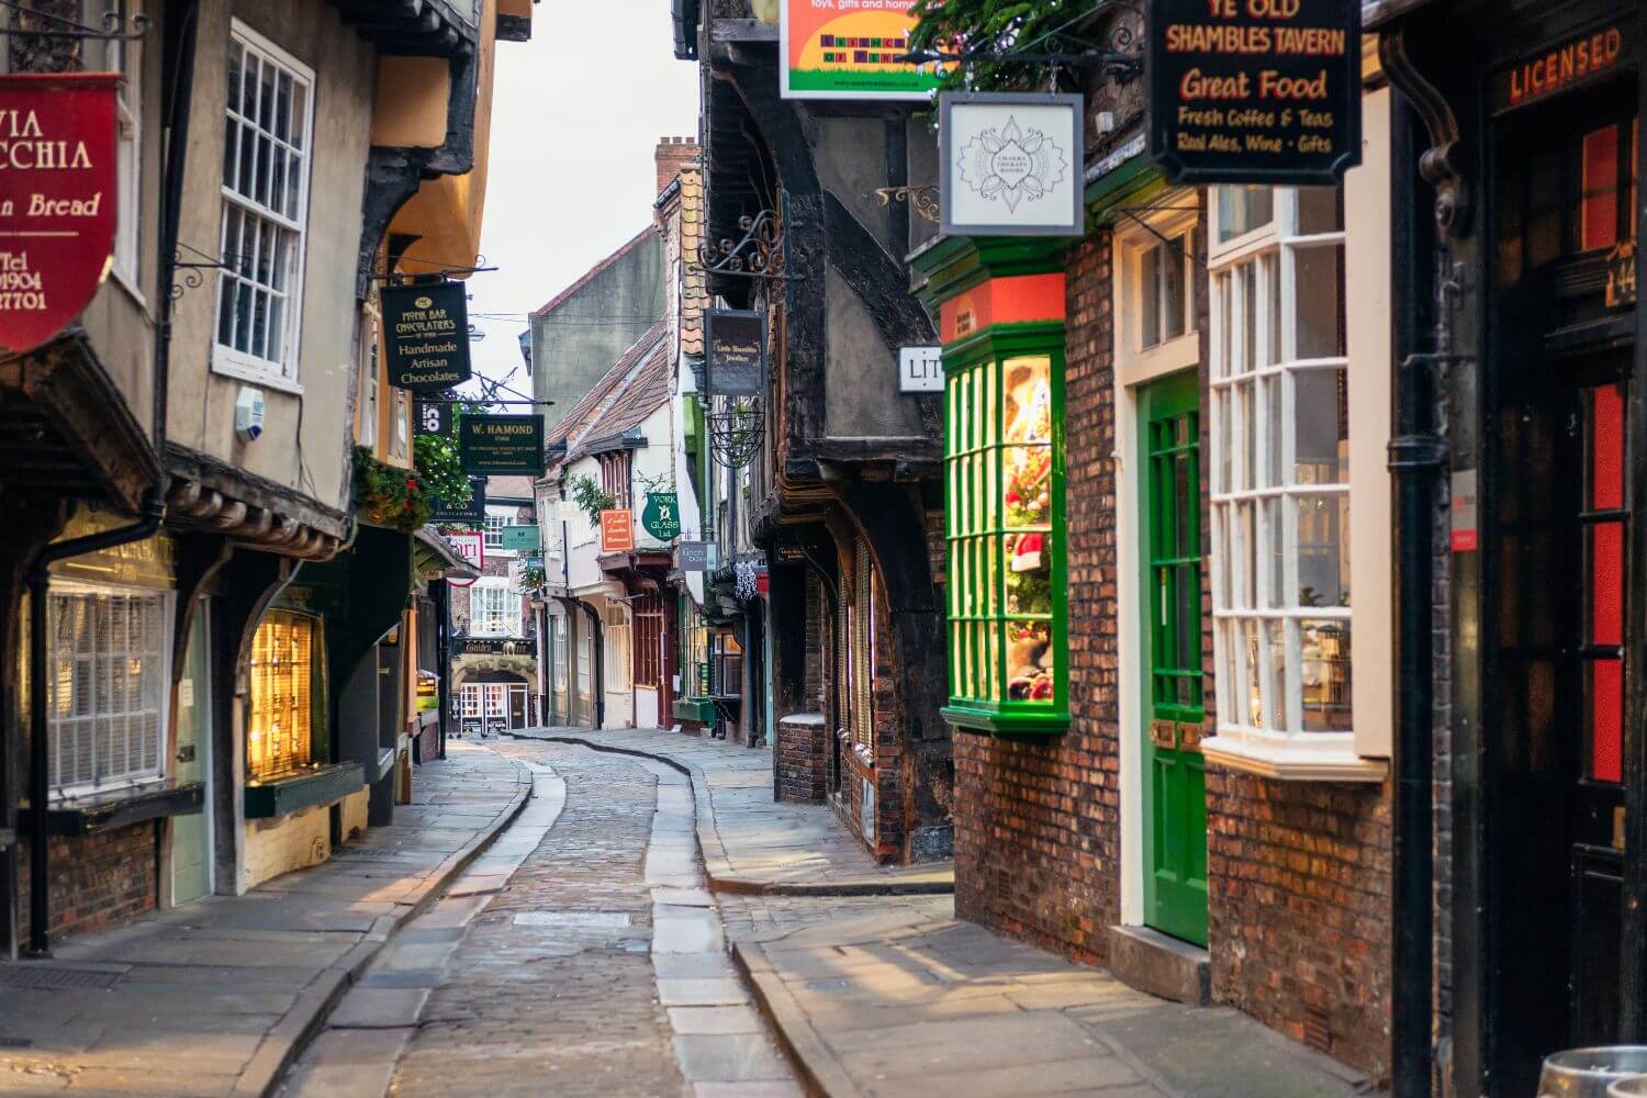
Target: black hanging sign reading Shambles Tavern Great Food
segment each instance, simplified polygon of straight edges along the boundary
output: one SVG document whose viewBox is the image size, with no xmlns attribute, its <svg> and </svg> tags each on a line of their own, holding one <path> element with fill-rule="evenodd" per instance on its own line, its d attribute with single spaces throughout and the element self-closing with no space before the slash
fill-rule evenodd
<svg viewBox="0 0 1647 1098">
<path fill-rule="evenodd" d="M 1360 0 L 1151 0 L 1150 160 L 1311 186 L 1360 163 Z"/>
</svg>

